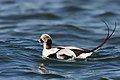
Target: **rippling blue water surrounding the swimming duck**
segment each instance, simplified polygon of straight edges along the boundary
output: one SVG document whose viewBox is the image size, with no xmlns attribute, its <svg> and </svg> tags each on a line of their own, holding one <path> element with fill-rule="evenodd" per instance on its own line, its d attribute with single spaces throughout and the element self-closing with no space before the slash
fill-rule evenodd
<svg viewBox="0 0 120 80">
<path fill-rule="evenodd" d="M 117 22 L 114 36 L 87 60 L 41 58 L 43 33 L 53 45 L 94 48 Z M 119 0 L 0 0 L 0 80 L 120 80 Z M 41 75 L 44 63 L 50 74 Z"/>
</svg>

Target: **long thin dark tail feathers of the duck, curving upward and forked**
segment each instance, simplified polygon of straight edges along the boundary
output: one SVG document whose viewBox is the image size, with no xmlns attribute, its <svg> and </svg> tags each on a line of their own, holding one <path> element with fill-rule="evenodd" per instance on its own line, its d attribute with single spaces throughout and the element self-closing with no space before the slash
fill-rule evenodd
<svg viewBox="0 0 120 80">
<path fill-rule="evenodd" d="M 106 25 L 106 27 L 108 29 L 107 36 L 106 36 L 105 39 L 103 39 L 102 43 L 100 43 L 98 46 L 96 46 L 95 48 L 90 50 L 90 52 L 95 52 L 98 49 L 100 49 L 112 37 L 112 35 L 114 34 L 114 32 L 116 30 L 116 25 L 117 25 L 116 22 L 115 22 L 115 26 L 114 26 L 113 31 L 111 32 L 111 34 L 110 34 L 110 29 L 109 29 L 109 26 L 108 26 L 107 22 L 105 22 L 104 20 L 102 20 L 102 22 Z"/>
</svg>

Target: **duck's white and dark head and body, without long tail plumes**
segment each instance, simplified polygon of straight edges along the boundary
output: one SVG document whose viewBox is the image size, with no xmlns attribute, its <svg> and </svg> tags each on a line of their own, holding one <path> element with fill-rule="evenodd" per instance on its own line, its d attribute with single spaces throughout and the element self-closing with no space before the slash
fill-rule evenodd
<svg viewBox="0 0 120 80">
<path fill-rule="evenodd" d="M 43 43 L 43 58 L 74 60 L 77 58 L 87 58 L 92 54 L 89 50 L 73 46 L 58 46 L 56 48 L 52 48 L 52 39 L 48 34 L 43 34 L 40 37 L 39 42 Z"/>
</svg>

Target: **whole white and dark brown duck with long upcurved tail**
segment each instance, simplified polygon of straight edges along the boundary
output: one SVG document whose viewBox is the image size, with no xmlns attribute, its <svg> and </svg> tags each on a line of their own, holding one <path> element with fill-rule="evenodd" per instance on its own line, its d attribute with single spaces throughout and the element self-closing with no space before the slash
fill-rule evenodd
<svg viewBox="0 0 120 80">
<path fill-rule="evenodd" d="M 52 47 L 52 38 L 48 34 L 42 34 L 41 37 L 38 39 L 39 42 L 43 43 L 43 51 L 42 51 L 42 57 L 44 58 L 54 58 L 54 59 L 64 59 L 64 60 L 74 60 L 74 59 L 85 59 L 89 56 L 92 55 L 93 52 L 97 51 L 100 49 L 108 39 L 111 38 L 111 36 L 114 34 L 115 29 L 116 29 L 116 23 L 113 31 L 111 34 L 109 33 L 109 26 L 106 22 L 104 22 L 107 29 L 108 33 L 106 38 L 103 40 L 101 44 L 99 44 L 97 47 L 94 49 L 88 50 L 88 49 L 83 49 L 83 48 L 77 48 L 77 47 L 63 47 L 63 46 L 58 46 L 53 48 Z"/>
</svg>

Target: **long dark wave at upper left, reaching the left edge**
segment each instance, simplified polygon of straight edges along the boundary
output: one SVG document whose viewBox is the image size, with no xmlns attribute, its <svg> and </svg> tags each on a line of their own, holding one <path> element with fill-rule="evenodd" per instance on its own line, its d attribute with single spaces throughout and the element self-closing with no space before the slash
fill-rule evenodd
<svg viewBox="0 0 120 80">
<path fill-rule="evenodd" d="M 14 15 L 0 16 L 0 18 L 7 19 L 7 20 L 26 20 L 26 19 L 57 20 L 57 19 L 60 19 L 59 16 L 53 13 L 14 14 Z"/>
</svg>

